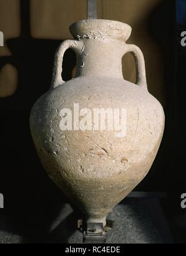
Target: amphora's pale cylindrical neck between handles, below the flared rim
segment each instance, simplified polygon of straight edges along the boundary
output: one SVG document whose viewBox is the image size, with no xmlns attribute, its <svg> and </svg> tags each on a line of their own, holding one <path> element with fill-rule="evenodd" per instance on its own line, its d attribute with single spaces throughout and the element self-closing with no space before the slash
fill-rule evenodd
<svg viewBox="0 0 186 256">
<path fill-rule="evenodd" d="M 117 39 L 81 39 L 82 49 L 78 54 L 76 77 L 123 78 L 122 57 L 124 42 Z"/>
</svg>

